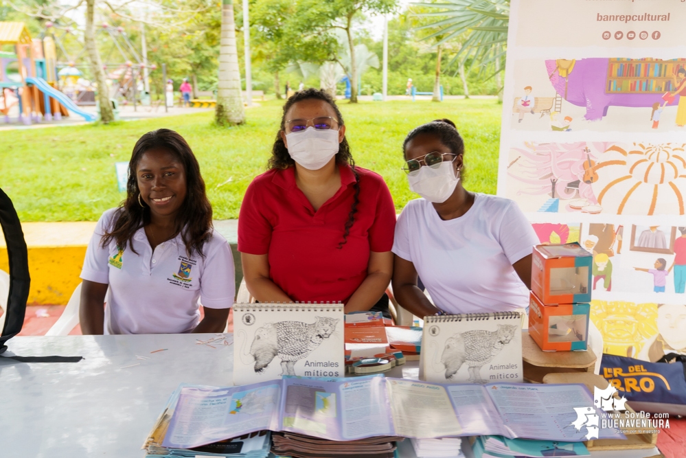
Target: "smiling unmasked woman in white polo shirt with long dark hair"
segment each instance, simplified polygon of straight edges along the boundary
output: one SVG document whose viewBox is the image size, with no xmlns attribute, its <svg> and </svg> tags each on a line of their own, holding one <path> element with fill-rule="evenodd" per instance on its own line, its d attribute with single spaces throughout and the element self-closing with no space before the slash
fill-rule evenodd
<svg viewBox="0 0 686 458">
<path fill-rule="evenodd" d="M 128 166 L 126 200 L 102 214 L 86 251 L 83 334 L 222 332 L 233 257 L 212 227 L 190 146 L 173 130 L 153 130 L 137 141 Z"/>
</svg>

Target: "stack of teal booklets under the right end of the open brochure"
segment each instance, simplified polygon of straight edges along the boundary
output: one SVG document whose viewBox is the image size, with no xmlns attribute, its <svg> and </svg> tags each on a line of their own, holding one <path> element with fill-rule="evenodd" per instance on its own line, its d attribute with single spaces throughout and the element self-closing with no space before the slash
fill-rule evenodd
<svg viewBox="0 0 686 458">
<path fill-rule="evenodd" d="M 473 449 L 475 458 L 591 456 L 583 442 L 508 439 L 503 436 L 479 436 Z"/>
</svg>

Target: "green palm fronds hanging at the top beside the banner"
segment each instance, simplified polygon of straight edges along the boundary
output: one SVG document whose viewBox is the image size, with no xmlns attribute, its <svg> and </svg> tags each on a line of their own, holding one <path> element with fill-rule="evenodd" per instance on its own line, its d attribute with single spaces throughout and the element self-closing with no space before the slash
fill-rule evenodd
<svg viewBox="0 0 686 458">
<path fill-rule="evenodd" d="M 422 8 L 440 8 L 442 11 L 418 13 L 416 16 L 437 19 L 418 27 L 435 29 L 424 39 L 439 37 L 436 45 L 454 41 L 466 34 L 461 49 L 450 61 L 464 66 L 469 59 L 482 69 L 494 64 L 495 73 L 504 70 L 501 65 L 507 45 L 507 25 L 510 22 L 510 0 L 446 0 L 446 3 L 413 3 Z M 464 71 L 464 70 L 463 70 Z"/>
</svg>

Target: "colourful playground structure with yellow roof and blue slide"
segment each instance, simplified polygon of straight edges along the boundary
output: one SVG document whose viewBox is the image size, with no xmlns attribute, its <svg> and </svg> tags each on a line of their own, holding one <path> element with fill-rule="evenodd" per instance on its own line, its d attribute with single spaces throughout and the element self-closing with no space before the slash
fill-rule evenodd
<svg viewBox="0 0 686 458">
<path fill-rule="evenodd" d="M 10 109 L 19 106 L 19 122 L 32 124 L 69 116 L 69 111 L 86 121 L 95 116 L 82 111 L 65 93 L 56 89 L 56 49 L 52 37 L 31 38 L 22 22 L 0 22 L 0 49 L 14 46 L 14 53 L 0 54 L 0 112 L 10 122 Z"/>
</svg>

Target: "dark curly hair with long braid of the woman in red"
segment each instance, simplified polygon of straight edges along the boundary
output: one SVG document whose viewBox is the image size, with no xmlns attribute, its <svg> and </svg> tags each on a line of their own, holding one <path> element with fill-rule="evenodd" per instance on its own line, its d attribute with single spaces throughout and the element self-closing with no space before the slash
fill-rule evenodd
<svg viewBox="0 0 686 458">
<path fill-rule="evenodd" d="M 291 106 L 303 100 L 323 100 L 334 109 L 339 126 L 345 125 L 339 107 L 336 106 L 336 102 L 334 102 L 334 99 L 326 91 L 312 87 L 305 89 L 304 91 L 297 91 L 295 94 L 291 95 L 284 104 L 284 113 L 281 117 L 279 132 L 276 134 L 274 146 L 271 149 L 271 157 L 267 163 L 267 168 L 269 170 L 284 170 L 295 165 L 295 161 L 293 161 L 293 158 L 288 154 L 288 148 L 286 148 L 286 144 L 284 144 L 284 140 L 281 138 L 281 133 L 286 130 L 286 113 L 288 113 Z M 343 240 L 339 242 L 339 246 L 337 247 L 338 249 L 343 249 L 343 245 L 347 242 L 347 236 L 350 235 L 350 229 L 355 223 L 355 214 L 357 213 L 357 206 L 360 203 L 360 176 L 358 175 L 357 170 L 355 170 L 355 160 L 352 159 L 350 144 L 348 144 L 345 137 L 343 137 L 343 141 L 339 144 L 339 152 L 336 153 L 336 163 L 350 165 L 350 169 L 355 175 L 354 200 L 352 207 L 350 207 L 350 213 L 347 216 L 345 227 L 343 227 Z"/>
</svg>

